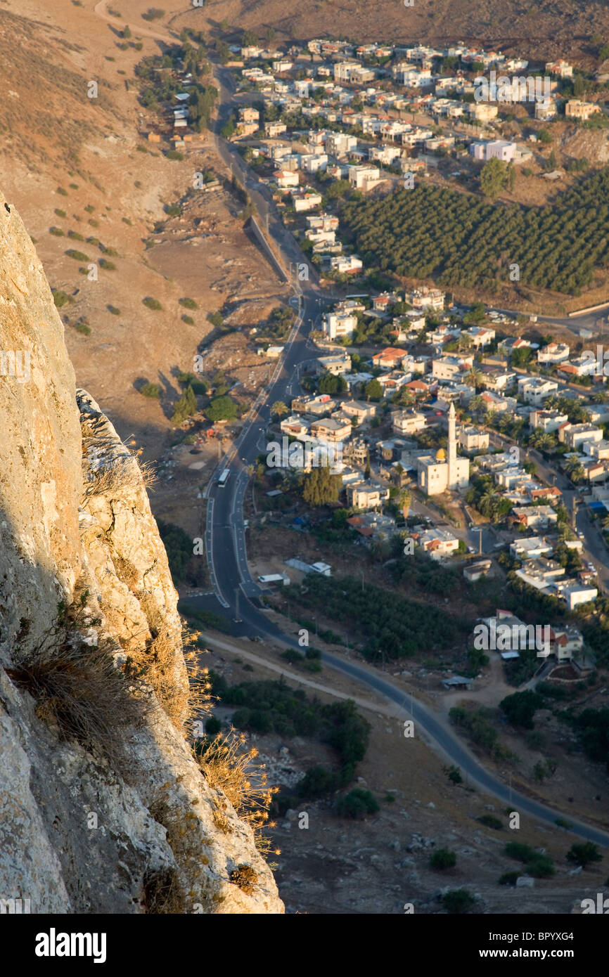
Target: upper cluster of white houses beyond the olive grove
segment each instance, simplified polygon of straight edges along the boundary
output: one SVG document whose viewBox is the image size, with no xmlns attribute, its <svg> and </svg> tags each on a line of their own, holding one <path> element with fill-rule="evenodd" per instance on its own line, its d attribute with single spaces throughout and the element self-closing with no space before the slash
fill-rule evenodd
<svg viewBox="0 0 609 977">
<path fill-rule="evenodd" d="M 570 97 L 582 79 L 564 61 L 533 66 L 464 45 L 434 50 L 324 40 L 292 46 L 283 58 L 253 45 L 231 50 L 226 66 L 238 96 L 250 103 L 239 107 L 231 138 L 247 143 L 247 157 L 268 164 L 262 179 L 296 213 L 321 203 L 312 178 L 348 180 L 367 193 L 404 177 L 409 186 L 414 174 L 427 177 L 443 160 L 460 167 L 445 174 L 452 177 L 475 173 L 470 164 L 491 159 L 525 165 L 546 142 L 544 122 L 602 118 L 593 101 Z M 527 68 L 527 75 L 516 73 Z M 515 106 L 519 122 L 531 121 L 526 141 L 502 138 Z M 554 167 L 544 176 L 554 181 L 564 171 Z M 323 267 L 339 274 L 361 268 L 357 256 L 355 263 L 340 257 L 334 227 L 315 231 L 309 239 Z"/>
</svg>

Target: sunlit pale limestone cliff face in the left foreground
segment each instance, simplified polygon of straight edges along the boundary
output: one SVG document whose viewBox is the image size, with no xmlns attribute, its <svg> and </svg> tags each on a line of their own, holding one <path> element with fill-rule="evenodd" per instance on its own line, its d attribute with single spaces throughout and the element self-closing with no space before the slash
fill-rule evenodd
<svg viewBox="0 0 609 977">
<path fill-rule="evenodd" d="M 180 732 L 176 605 L 139 466 L 76 391 L 49 285 L 0 195 L 0 899 L 31 913 L 283 913 L 250 828 Z M 155 669 L 118 766 L 22 680 L 61 656 L 69 676 L 76 646 L 81 663 L 100 643 Z"/>
</svg>

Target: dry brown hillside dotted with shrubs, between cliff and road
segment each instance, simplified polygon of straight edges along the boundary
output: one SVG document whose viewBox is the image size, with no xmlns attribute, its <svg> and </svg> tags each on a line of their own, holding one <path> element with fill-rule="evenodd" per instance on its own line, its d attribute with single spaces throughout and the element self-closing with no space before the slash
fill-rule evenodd
<svg viewBox="0 0 609 977">
<path fill-rule="evenodd" d="M 244 301 L 235 324 L 254 325 L 281 301 L 282 289 L 244 232 L 231 192 L 200 194 L 181 218 L 166 213 L 192 187 L 196 170 L 225 170 L 209 132 L 182 161 L 166 159 L 139 135 L 155 120 L 130 86 L 134 66 L 161 50 L 149 35 L 169 36 L 166 21 L 184 13 L 184 4 L 164 4 L 167 17 L 151 24 L 141 17 L 150 6 L 59 0 L 52 14 L 41 14 L 32 3 L 0 5 L 7 93 L 0 170 L 52 287 L 71 300 L 60 314 L 78 383 L 152 459 L 172 437 L 178 372 L 192 369 L 201 342 L 214 338 L 208 313 Z M 120 50 L 116 28 L 94 13 L 107 8 L 123 13 L 141 51 Z M 97 99 L 87 98 L 91 79 Z M 98 281 L 79 272 L 91 262 Z M 195 311 L 179 304 L 185 296 L 195 299 Z M 162 310 L 146 308 L 146 297 Z M 183 320 L 187 312 L 193 324 Z M 243 363 L 236 359 L 229 379 L 248 380 Z M 262 380 L 266 373 L 258 372 Z M 159 385 L 160 402 L 138 393 L 144 381 Z"/>
</svg>

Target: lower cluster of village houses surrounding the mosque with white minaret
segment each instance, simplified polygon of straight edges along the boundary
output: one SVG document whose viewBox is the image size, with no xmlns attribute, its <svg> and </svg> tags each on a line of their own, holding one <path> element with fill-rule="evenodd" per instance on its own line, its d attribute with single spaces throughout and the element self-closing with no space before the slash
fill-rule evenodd
<svg viewBox="0 0 609 977">
<path fill-rule="evenodd" d="M 386 323 L 396 345 L 361 352 L 355 337 L 367 316 Z M 405 552 L 460 566 L 467 583 L 493 574 L 500 550 L 561 616 L 586 613 L 603 587 L 576 516 L 584 507 L 597 523 L 609 507 L 606 378 L 596 370 L 593 387 L 578 389 L 574 375 L 589 357 L 571 356 L 567 343 L 516 338 L 515 319 L 494 310 L 482 317 L 488 325 L 467 326 L 468 316 L 424 287 L 337 303 L 315 334 L 318 356 L 302 377 L 309 392 L 274 404 L 268 473 L 281 485 L 294 468 L 330 466 L 360 545 L 399 536 Z M 277 499 L 282 489 L 267 494 Z M 322 561 L 287 564 L 331 573 Z M 260 579 L 273 586 L 286 574 Z M 548 627 L 553 660 L 589 673 L 582 632 Z M 496 650 L 511 660 L 521 646 Z"/>
</svg>

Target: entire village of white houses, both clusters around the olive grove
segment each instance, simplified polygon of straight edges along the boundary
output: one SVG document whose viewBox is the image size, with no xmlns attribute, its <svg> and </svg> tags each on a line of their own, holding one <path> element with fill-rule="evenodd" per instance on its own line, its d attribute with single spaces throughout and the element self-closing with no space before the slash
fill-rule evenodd
<svg viewBox="0 0 609 977">
<path fill-rule="evenodd" d="M 406 538 L 432 560 L 456 564 L 468 584 L 497 573 L 502 558 L 523 585 L 555 598 L 561 614 L 593 608 L 609 581 L 587 559 L 577 517 L 584 506 L 605 552 L 602 363 L 577 335 L 544 333 L 535 315 L 459 302 L 420 282 L 370 287 L 366 256 L 354 251 L 333 207 L 345 189 L 357 199 L 413 189 L 440 172 L 449 182 L 477 180 L 493 160 L 526 168 L 546 145 L 545 123 L 604 118 L 579 97 L 581 75 L 564 61 L 535 65 L 461 44 L 313 40 L 281 51 L 244 43 L 222 52 L 221 63 L 233 92 L 223 135 L 272 192 L 320 283 L 342 292 L 328 297 L 310 333 L 314 355 L 298 374 L 301 392 L 274 404 L 259 457 L 276 480 L 269 503 L 279 505 L 286 474 L 327 466 L 358 545 Z M 181 152 L 197 140 L 188 67 L 177 63 L 177 106 L 165 119 Z M 503 138 L 512 110 L 525 140 Z M 544 170 L 548 183 L 566 177 Z M 213 176 L 205 174 L 202 189 L 218 187 Z M 586 330 L 580 337 L 591 338 Z M 267 360 L 283 355 L 282 340 L 265 341 L 264 332 L 254 345 Z M 322 556 L 286 559 L 285 567 L 329 575 Z M 263 568 L 259 581 L 284 583 L 285 567 Z M 571 624 L 551 633 L 557 662 L 589 672 L 582 633 Z M 519 649 L 502 655 L 518 658 Z"/>
</svg>

